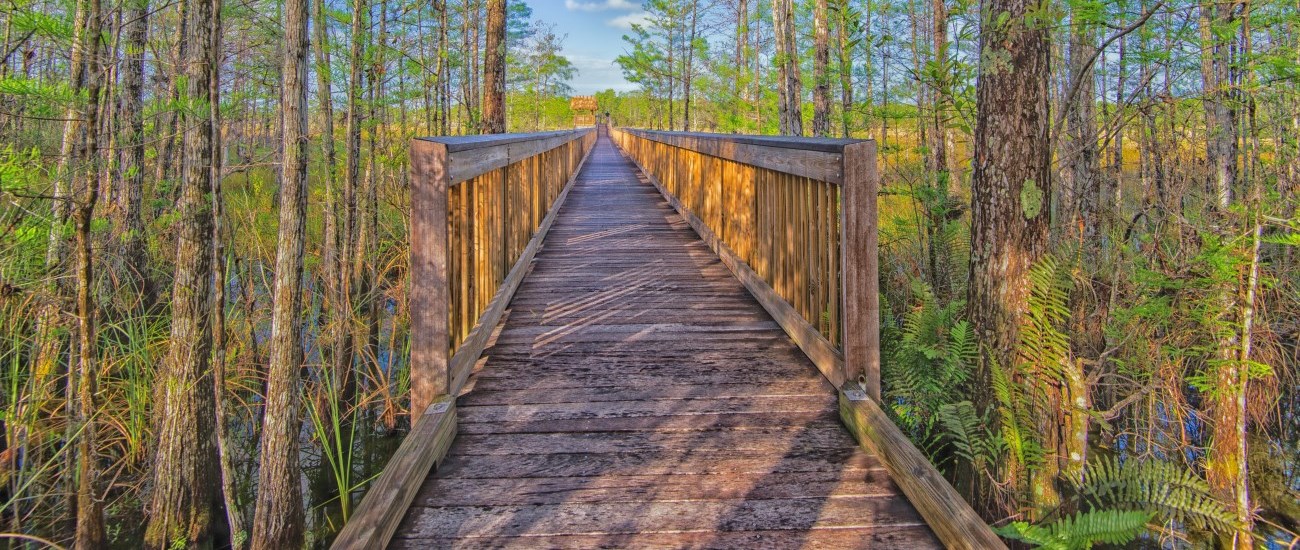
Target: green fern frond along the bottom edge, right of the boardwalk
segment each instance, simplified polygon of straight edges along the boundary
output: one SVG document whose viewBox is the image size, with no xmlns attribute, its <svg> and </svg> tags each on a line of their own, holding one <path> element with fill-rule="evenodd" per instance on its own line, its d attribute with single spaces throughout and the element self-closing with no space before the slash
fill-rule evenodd
<svg viewBox="0 0 1300 550">
<path fill-rule="evenodd" d="M 1079 512 L 1056 521 L 1035 525 L 1013 521 L 994 529 L 1002 537 L 1028 542 L 1041 549 L 1091 549 L 1101 542 L 1123 545 L 1147 530 L 1153 514 L 1144 511 L 1100 510 Z"/>
</svg>

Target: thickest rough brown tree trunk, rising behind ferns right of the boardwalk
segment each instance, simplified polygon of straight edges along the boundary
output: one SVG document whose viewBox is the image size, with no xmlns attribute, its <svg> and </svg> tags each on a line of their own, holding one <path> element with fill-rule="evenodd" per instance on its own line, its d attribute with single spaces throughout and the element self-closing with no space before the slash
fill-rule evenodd
<svg viewBox="0 0 1300 550">
<path fill-rule="evenodd" d="M 984 64 L 976 82 L 971 174 L 967 315 L 985 346 L 972 390 L 983 406 L 991 360 L 1000 368 L 1015 361 L 1030 269 L 1048 243 L 1050 44 L 1045 23 L 1032 16 L 1037 9 L 1034 0 L 980 3 L 980 59 L 998 60 Z"/>
</svg>

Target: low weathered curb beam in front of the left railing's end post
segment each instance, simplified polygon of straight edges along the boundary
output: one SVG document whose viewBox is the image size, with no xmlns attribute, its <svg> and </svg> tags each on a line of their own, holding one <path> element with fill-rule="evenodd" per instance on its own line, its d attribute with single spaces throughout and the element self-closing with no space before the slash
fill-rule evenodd
<svg viewBox="0 0 1300 550">
<path fill-rule="evenodd" d="M 393 538 L 421 481 L 443 460 L 455 437 L 456 403 L 443 397 L 425 410 L 415 429 L 402 439 L 332 547 L 384 547 Z"/>
</svg>

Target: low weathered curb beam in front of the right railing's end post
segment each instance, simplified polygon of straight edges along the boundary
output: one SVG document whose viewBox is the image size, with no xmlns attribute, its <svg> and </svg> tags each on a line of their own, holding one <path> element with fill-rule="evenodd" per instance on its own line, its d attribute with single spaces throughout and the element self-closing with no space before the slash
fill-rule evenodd
<svg viewBox="0 0 1300 550">
<path fill-rule="evenodd" d="M 940 541 L 950 549 L 1005 549 L 1006 545 L 957 494 L 926 455 L 864 394 L 840 393 L 840 417 L 864 449 L 880 456 L 894 482 Z"/>
</svg>

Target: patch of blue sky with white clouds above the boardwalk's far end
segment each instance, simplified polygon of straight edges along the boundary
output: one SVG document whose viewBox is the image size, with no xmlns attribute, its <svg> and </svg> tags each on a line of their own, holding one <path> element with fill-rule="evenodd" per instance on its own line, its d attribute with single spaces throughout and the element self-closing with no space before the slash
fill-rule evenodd
<svg viewBox="0 0 1300 550">
<path fill-rule="evenodd" d="M 614 59 L 623 55 L 623 35 L 645 12 L 641 0 L 526 0 L 533 18 L 555 25 L 555 34 L 564 36 L 564 57 L 577 69 L 569 82 L 575 95 L 592 95 L 602 90 L 636 90 L 623 78 L 623 69 Z"/>
</svg>

